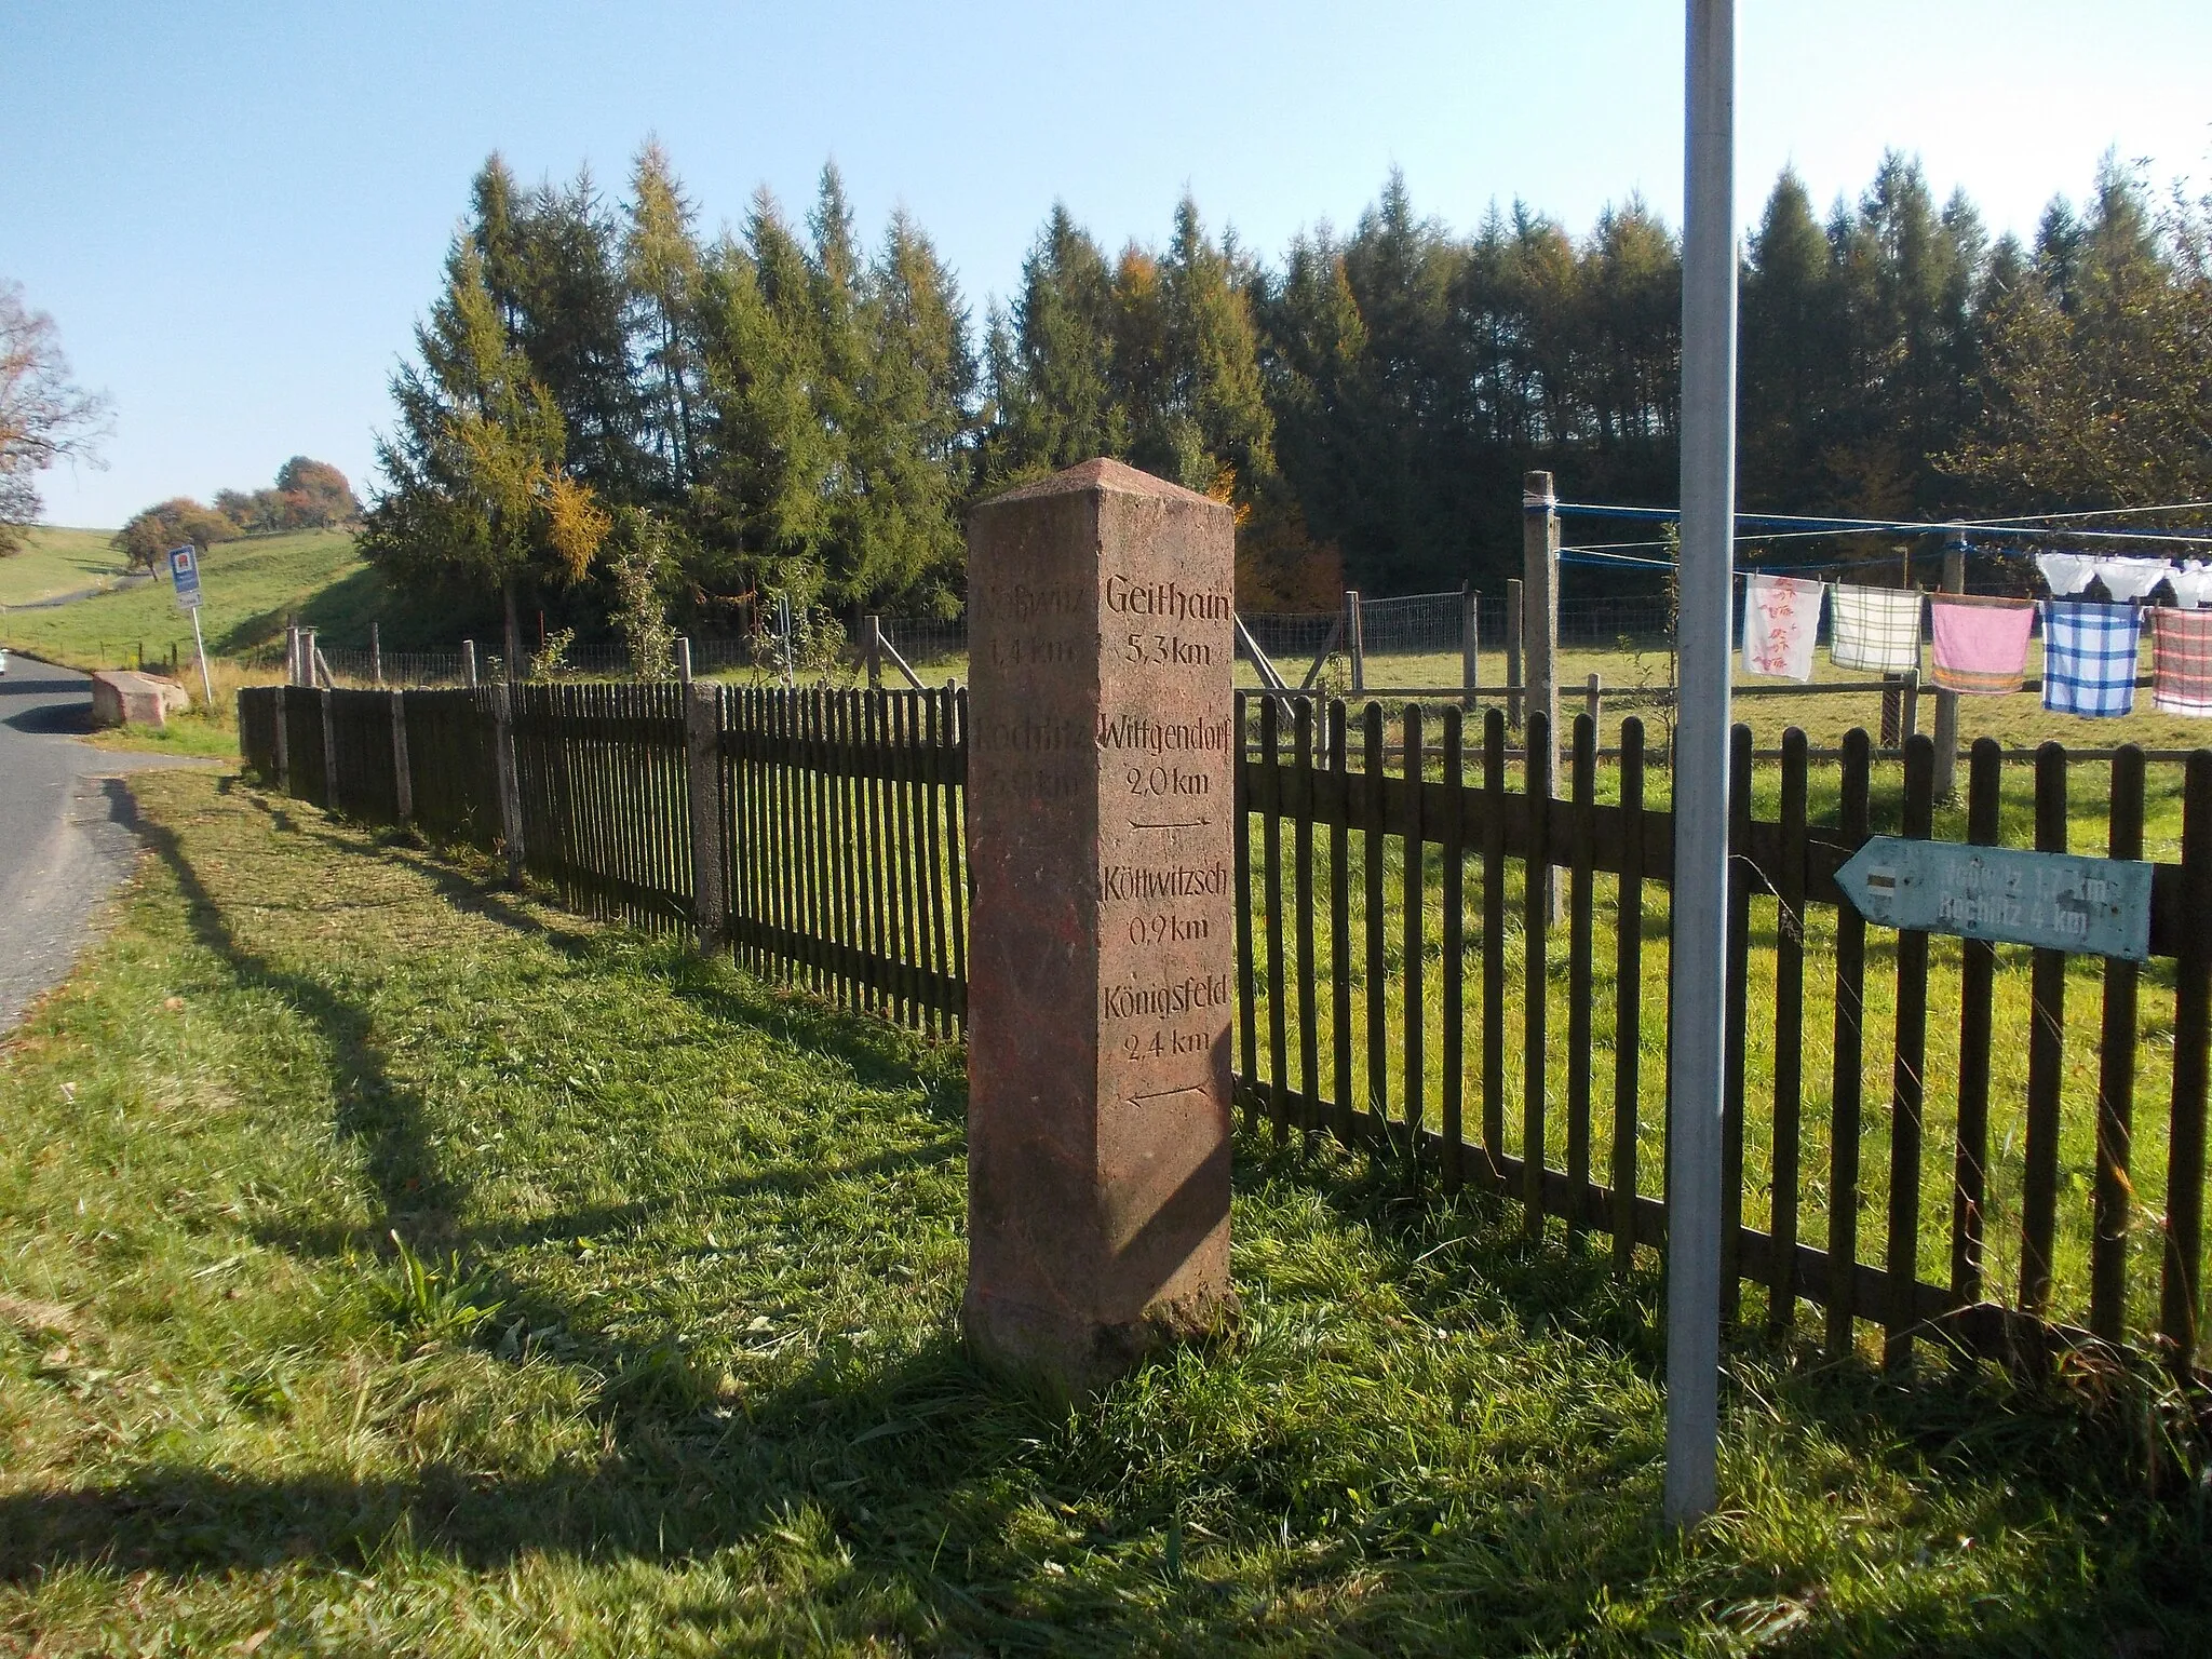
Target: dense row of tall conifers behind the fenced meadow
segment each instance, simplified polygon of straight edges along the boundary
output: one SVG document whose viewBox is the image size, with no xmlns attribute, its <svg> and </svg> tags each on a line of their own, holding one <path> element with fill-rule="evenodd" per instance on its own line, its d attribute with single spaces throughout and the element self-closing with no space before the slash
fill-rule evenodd
<svg viewBox="0 0 2212 1659">
<path fill-rule="evenodd" d="M 2212 493 L 2212 206 L 2110 157 L 2026 241 L 1882 159 L 1823 215 L 1785 170 L 1747 237 L 1741 500 L 1944 518 Z M 476 175 L 394 378 L 363 551 L 400 584 L 595 626 L 953 615 L 962 511 L 1119 456 L 1230 502 L 1248 608 L 1495 588 L 1520 476 L 1670 502 L 1681 252 L 1630 197 L 1582 237 L 1513 204 L 1467 234 L 1391 175 L 1279 259 L 1183 199 L 1108 254 L 1055 206 L 978 319 L 927 232 L 863 243 L 823 168 L 706 239 L 646 144 L 591 173 Z M 834 626 L 834 624 L 832 624 Z"/>
</svg>

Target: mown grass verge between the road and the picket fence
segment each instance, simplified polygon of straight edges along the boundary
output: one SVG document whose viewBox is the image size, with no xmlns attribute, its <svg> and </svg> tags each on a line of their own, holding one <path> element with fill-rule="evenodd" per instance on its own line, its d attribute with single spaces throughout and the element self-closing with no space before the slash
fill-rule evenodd
<svg viewBox="0 0 2212 1659">
<path fill-rule="evenodd" d="M 1239 1338 L 962 1358 L 962 1062 L 204 774 L 0 1051 L 0 1646 L 2163 1652 L 2119 1420 L 1732 1360 L 1657 1522 L 1659 1290 L 1241 1144 Z"/>
</svg>

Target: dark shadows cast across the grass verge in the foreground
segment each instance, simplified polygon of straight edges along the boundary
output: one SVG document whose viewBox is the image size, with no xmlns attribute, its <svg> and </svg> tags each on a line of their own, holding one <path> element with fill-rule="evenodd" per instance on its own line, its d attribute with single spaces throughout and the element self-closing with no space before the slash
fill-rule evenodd
<svg viewBox="0 0 2212 1659">
<path fill-rule="evenodd" d="M 630 1217 L 633 1206 L 619 1206 L 460 1237 L 458 1192 L 438 1170 L 422 1102 L 385 1075 L 369 1015 L 327 987 L 243 951 L 177 838 L 159 825 L 142 825 L 142 834 L 184 887 L 195 936 L 241 984 L 272 991 L 312 1020 L 332 1044 L 338 1073 L 358 1079 L 343 1086 L 338 1126 L 367 1152 L 385 1223 L 418 1239 L 498 1252 L 604 1232 Z M 380 856 L 358 841 L 334 838 L 334 847 Z M 460 872 L 407 856 L 440 880 L 447 902 L 549 933 L 526 909 Z M 595 949 L 582 929 L 562 929 L 560 947 Z M 836 1055 L 883 1084 L 922 1082 L 914 1040 L 902 1033 L 796 995 L 743 989 L 675 951 L 653 971 L 726 1026 Z M 942 1093 L 938 1110 L 949 1121 L 962 1102 L 956 1091 Z M 953 1157 L 958 1144 L 947 1141 L 843 1168 L 792 1161 L 712 1190 L 799 1197 L 898 1161 Z M 1601 1241 L 1584 1248 L 1528 1241 L 1517 1212 L 1491 1199 L 1413 1201 L 1402 1168 L 1387 1159 L 1307 1157 L 1245 1137 L 1239 1164 L 1248 1199 L 1290 1183 L 1318 1192 L 1338 1223 L 1363 1230 L 1376 1276 L 1416 1316 L 1436 1325 L 1462 1321 L 1473 1290 L 1526 1332 L 1568 1329 L 1624 1356 L 1646 1378 L 1661 1371 L 1663 1349 L 1650 1323 L 1659 1281 L 1650 1272 L 1617 1281 Z M 1254 1606 L 1301 1586 L 1358 1579 L 1367 1586 L 1360 1595 L 1301 1601 L 1305 1646 L 1433 1650 L 1573 1641 L 1577 1613 L 1588 1619 L 1608 1588 L 1661 1573 L 1681 1548 L 1650 1513 L 1648 1480 L 1621 1489 L 1617 1464 L 1579 1462 L 1546 1489 L 1540 1513 L 1517 1522 L 1540 1537 L 1540 1555 L 1555 1564 L 1559 1582 L 1493 1590 L 1484 1601 L 1469 1586 L 1495 1586 L 1500 1553 L 1526 1548 L 1502 1535 L 1506 1522 L 1495 1515 L 1438 1515 L 1418 1537 L 1363 1533 L 1354 1524 L 1316 1531 L 1323 1522 L 1312 1500 L 1285 1493 L 1321 1484 L 1314 1464 L 1325 1433 L 1303 1442 L 1283 1433 L 1265 1449 L 1234 1436 L 1212 1442 L 1199 1436 L 1212 1449 L 1194 1453 L 1197 1462 L 1177 1478 L 1230 1493 L 1243 1564 L 1183 1566 L 1161 1544 L 1170 1522 L 1179 1526 L 1179 1511 L 1146 1467 L 1155 1455 L 1146 1413 L 1183 1409 L 1172 1398 L 1170 1367 L 1150 1367 L 1102 1407 L 1071 1418 L 980 1376 L 942 1329 L 889 1358 L 865 1347 L 825 1354 L 783 1385 L 730 1402 L 719 1380 L 675 1343 L 626 1340 L 595 1325 L 591 1307 L 502 1274 L 487 1281 L 487 1294 L 533 1327 L 564 1327 L 575 1347 L 562 1360 L 604 1378 L 597 1455 L 533 1473 L 429 1464 L 405 1478 L 367 1480 L 157 1469 L 84 1489 L 13 1493 L 0 1498 L 0 1577 L 29 1582 L 71 1564 L 195 1575 L 294 1559 L 376 1571 L 392 1548 L 471 1568 L 507 1566 L 531 1553 L 688 1559 L 743 1546 L 774 1557 L 814 1537 L 812 1555 L 787 1571 L 790 1582 L 779 1584 L 772 1566 L 748 1571 L 765 1575 L 770 1597 L 803 1595 L 807 1615 L 827 1621 L 816 1637 L 827 1628 L 993 1650 L 1203 1648 L 1261 1637 Z M 2046 1440 L 2101 1433 L 2095 1425 L 2024 1409 L 2017 1398 L 2000 1398 L 1986 1378 L 1929 1376 L 1902 1391 L 1851 1367 L 1792 1369 L 1787 1356 L 1781 1360 L 1778 1380 L 1761 1378 L 1776 1416 L 1816 1425 L 1863 1458 L 1896 1462 L 1907 1473 L 1911 1455 L 1900 1451 L 1900 1438 L 1938 1462 L 1955 1458 L 1960 1473 L 1973 1475 L 1978 1526 L 2033 1526 L 2046 1504 L 2077 1515 L 2112 1506 L 2106 1493 L 2044 1486 L 2057 1471 L 2093 1467 L 2081 1447 L 2055 1453 Z M 1237 1358 L 1219 1365 L 1232 1367 Z M 1973 1438 L 1991 1411 L 2011 1413 L 2004 1438 Z M 1018 1542 L 1018 1511 L 1033 1511 L 1037 1500 L 1086 1509 L 1088 1531 L 1064 1546 L 1086 1553 L 1079 1571 L 1055 1573 L 1040 1546 Z M 2077 1577 L 2059 1557 L 2070 1557 L 2086 1533 L 2099 1571 L 2135 1573 L 2152 1597 L 2201 1610 L 2212 1579 L 2201 1524 L 2190 1531 L 2185 1515 L 2168 1522 L 2161 1520 L 2168 1511 L 2141 1504 L 2117 1509 L 2121 1515 L 2101 1531 L 2046 1528 L 2053 1582 Z M 1276 1524 L 1283 1548 L 1267 1555 Z M 1292 1551 L 1294 1526 L 1301 1542 L 1312 1540 L 1310 1551 Z M 2159 1557 L 2148 1575 L 2139 1559 L 2146 1553 Z M 803 1593 L 792 1588 L 801 1582 Z M 1991 1608 L 1971 1646 L 1953 1639 L 1949 1650 L 2048 1650 L 2055 1610 L 2035 1590 L 2024 1584 L 2017 1606 Z M 2093 1608 L 2075 1613 L 2097 1621 Z M 2139 1606 L 2128 1613 L 2139 1615 Z M 1703 1604 L 1686 1608 L 1690 1617 L 1710 1621 Z M 790 1628 L 801 1624 L 794 1615 Z"/>
</svg>

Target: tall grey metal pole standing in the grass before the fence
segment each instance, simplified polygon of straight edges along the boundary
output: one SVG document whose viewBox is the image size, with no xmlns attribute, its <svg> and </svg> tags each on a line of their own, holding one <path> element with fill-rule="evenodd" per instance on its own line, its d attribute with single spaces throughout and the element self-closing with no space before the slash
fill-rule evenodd
<svg viewBox="0 0 2212 1659">
<path fill-rule="evenodd" d="M 1728 646 L 1736 529 L 1734 0 L 1688 0 L 1681 276 L 1681 695 L 1668 1097 L 1666 1517 L 1719 1498 Z"/>
</svg>

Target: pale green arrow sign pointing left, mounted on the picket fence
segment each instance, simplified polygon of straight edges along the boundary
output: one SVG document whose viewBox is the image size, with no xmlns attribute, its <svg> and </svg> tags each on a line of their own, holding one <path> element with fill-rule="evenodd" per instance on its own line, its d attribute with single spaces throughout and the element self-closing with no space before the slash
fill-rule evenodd
<svg viewBox="0 0 2212 1659">
<path fill-rule="evenodd" d="M 2130 962 L 2150 956 L 2150 865 L 2126 858 L 1874 836 L 1836 885 L 1878 927 Z"/>
</svg>

